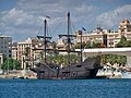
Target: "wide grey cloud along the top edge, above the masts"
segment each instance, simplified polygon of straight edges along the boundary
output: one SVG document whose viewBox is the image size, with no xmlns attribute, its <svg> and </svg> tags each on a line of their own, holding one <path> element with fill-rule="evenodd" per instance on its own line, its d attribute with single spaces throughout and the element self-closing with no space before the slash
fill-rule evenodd
<svg viewBox="0 0 131 98">
<path fill-rule="evenodd" d="M 87 4 L 84 0 L 20 0 L 17 9 L 34 15 L 58 17 L 63 16 L 68 11 L 82 15 L 94 11 L 96 7 Z"/>
</svg>

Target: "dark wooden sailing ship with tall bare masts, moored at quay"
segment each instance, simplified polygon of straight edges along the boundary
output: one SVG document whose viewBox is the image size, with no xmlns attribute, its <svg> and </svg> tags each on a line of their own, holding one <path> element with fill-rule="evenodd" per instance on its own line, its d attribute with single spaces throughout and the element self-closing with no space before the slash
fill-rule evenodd
<svg viewBox="0 0 131 98">
<path fill-rule="evenodd" d="M 82 60 L 82 49 L 79 51 L 81 54 L 81 62 L 78 63 L 71 63 L 70 62 L 70 52 L 78 52 L 78 51 L 72 51 L 70 49 L 70 42 L 71 42 L 71 37 L 75 37 L 73 35 L 70 35 L 69 26 L 70 26 L 70 12 L 68 13 L 68 35 L 59 35 L 60 37 L 64 36 L 67 37 L 68 41 L 68 65 L 64 68 L 60 68 L 60 65 L 52 64 L 49 65 L 46 62 L 46 40 L 48 37 L 46 37 L 46 23 L 47 21 L 45 20 L 45 62 L 44 63 L 37 63 L 36 68 L 32 68 L 31 70 L 37 73 L 37 78 L 39 79 L 86 79 L 86 78 L 96 78 L 97 71 L 100 65 L 100 56 L 96 56 L 94 58 L 87 58 L 84 61 Z M 82 42 L 82 38 L 81 38 Z M 82 45 L 81 45 L 82 46 Z M 82 48 L 82 47 L 81 47 Z"/>
</svg>

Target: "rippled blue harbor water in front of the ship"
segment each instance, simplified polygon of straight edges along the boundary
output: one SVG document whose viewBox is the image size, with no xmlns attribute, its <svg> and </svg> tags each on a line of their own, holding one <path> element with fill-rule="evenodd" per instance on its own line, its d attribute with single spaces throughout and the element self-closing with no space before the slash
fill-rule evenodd
<svg viewBox="0 0 131 98">
<path fill-rule="evenodd" d="M 131 79 L 0 79 L 0 98 L 131 98 Z"/>
</svg>

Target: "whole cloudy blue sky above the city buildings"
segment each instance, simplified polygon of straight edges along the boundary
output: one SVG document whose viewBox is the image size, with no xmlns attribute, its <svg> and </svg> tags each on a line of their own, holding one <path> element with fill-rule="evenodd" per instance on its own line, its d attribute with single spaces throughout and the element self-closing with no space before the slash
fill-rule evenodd
<svg viewBox="0 0 131 98">
<path fill-rule="evenodd" d="M 71 33 L 103 28 L 117 30 L 123 19 L 131 21 L 131 0 L 0 0 L 0 34 L 13 41 L 43 35 L 44 20 L 53 39 L 67 34 L 67 14 Z M 47 19 L 49 16 L 50 19 Z"/>
</svg>

